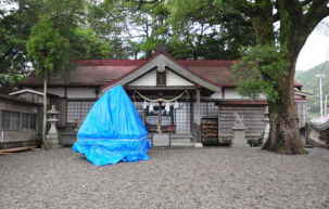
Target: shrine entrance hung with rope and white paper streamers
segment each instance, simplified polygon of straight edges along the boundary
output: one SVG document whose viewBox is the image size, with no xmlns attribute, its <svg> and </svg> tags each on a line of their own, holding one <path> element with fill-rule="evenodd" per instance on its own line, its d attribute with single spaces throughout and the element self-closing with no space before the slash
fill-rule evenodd
<svg viewBox="0 0 329 209">
<path fill-rule="evenodd" d="M 191 145 L 193 97 L 191 91 L 129 91 L 153 146 Z"/>
</svg>

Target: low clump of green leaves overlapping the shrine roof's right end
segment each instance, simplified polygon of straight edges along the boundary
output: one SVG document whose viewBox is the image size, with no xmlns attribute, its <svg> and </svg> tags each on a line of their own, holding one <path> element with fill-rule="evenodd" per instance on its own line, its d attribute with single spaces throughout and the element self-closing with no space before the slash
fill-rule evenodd
<svg viewBox="0 0 329 209">
<path fill-rule="evenodd" d="M 257 97 L 265 94 L 269 101 L 278 100 L 278 80 L 286 74 L 286 53 L 273 45 L 256 45 L 243 50 L 242 60 L 233 67 L 240 94 Z"/>
</svg>

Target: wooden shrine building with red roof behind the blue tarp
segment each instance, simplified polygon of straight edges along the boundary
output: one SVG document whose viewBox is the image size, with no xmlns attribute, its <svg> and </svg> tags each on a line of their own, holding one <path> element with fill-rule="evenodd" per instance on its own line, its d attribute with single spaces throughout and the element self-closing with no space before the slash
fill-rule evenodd
<svg viewBox="0 0 329 209">
<path fill-rule="evenodd" d="M 77 61 L 76 69 L 65 79 L 49 81 L 49 92 L 59 96 L 62 142 L 73 142 L 76 127 L 93 102 L 117 84 L 135 102 L 151 138 L 153 133 L 169 134 L 172 145 L 229 139 L 238 114 L 246 126 L 246 139 L 257 139 L 264 131 L 267 103 L 265 96 L 251 100 L 237 92 L 230 70 L 235 63 L 180 61 L 165 52 L 149 60 Z M 30 76 L 21 86 L 41 90 L 42 79 Z M 295 83 L 295 88 L 300 91 L 302 86 Z M 301 120 L 305 102 L 305 96 L 296 95 Z"/>
</svg>

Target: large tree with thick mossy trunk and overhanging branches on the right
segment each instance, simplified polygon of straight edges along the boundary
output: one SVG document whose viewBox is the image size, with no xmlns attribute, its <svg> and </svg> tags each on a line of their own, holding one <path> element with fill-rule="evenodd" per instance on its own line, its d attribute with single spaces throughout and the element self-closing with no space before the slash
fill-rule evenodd
<svg viewBox="0 0 329 209">
<path fill-rule="evenodd" d="M 187 0 L 174 0 L 176 12 Z M 240 13 L 253 26 L 257 45 L 246 51 L 242 64 L 253 68 L 242 86 L 246 92 L 268 96 L 270 133 L 263 146 L 282 154 L 304 154 L 294 104 L 295 63 L 300 50 L 316 25 L 329 14 L 328 0 L 193 0 L 194 4 L 219 5 L 218 13 Z M 224 10 L 225 9 L 225 10 Z M 278 29 L 276 29 L 278 27 Z M 270 56 L 264 55 L 270 53 Z M 253 57 L 253 58 L 252 58 Z M 278 58 L 279 57 L 279 58 Z M 264 88 L 265 87 L 265 88 Z M 244 91 L 245 92 L 245 91 Z"/>
</svg>

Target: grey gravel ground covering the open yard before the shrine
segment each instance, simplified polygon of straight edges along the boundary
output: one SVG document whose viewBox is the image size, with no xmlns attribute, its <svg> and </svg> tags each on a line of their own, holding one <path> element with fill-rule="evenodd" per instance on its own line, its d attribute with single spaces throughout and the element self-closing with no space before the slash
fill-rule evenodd
<svg viewBox="0 0 329 209">
<path fill-rule="evenodd" d="M 96 167 L 69 148 L 0 156 L 2 209 L 329 208 L 329 151 L 152 149 Z"/>
</svg>

